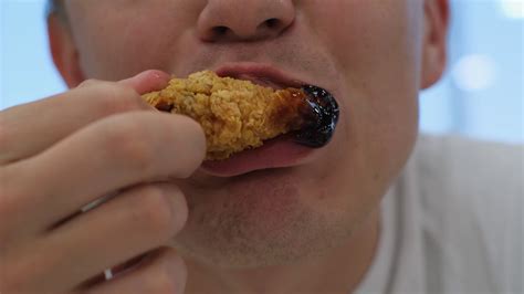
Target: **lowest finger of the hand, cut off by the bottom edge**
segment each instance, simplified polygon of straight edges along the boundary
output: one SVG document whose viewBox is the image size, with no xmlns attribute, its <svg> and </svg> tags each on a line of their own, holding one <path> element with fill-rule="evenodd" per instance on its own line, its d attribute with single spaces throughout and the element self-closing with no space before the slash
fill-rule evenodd
<svg viewBox="0 0 524 294">
<path fill-rule="evenodd" d="M 172 249 L 163 248 L 151 253 L 129 272 L 87 288 L 86 294 L 182 294 L 187 270 L 184 261 Z"/>
</svg>

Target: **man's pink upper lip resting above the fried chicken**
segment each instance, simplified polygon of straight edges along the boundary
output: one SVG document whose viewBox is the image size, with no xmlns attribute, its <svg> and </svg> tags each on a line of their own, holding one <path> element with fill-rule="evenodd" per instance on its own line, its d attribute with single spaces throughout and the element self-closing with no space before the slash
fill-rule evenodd
<svg viewBox="0 0 524 294">
<path fill-rule="evenodd" d="M 227 63 L 214 70 L 219 76 L 229 76 L 239 80 L 251 81 L 255 84 L 271 86 L 274 88 L 295 87 L 300 88 L 305 82 L 292 76 L 272 65 L 243 62 Z"/>
</svg>

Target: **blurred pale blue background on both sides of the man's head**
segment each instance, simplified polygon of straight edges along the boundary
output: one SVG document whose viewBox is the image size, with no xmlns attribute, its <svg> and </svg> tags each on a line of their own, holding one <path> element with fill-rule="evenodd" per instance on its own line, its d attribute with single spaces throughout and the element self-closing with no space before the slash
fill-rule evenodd
<svg viewBox="0 0 524 294">
<path fill-rule="evenodd" d="M 524 0 L 451 2 L 449 66 L 420 96 L 421 130 L 524 143 Z M 45 1 L 0 3 L 0 109 L 64 91 L 48 50 Z"/>
</svg>

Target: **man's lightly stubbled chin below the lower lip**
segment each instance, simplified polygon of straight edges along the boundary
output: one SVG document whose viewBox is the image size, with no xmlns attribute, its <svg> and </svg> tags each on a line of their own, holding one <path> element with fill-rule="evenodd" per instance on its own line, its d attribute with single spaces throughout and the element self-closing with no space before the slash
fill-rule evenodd
<svg viewBox="0 0 524 294">
<path fill-rule="evenodd" d="M 283 265 L 323 254 L 352 228 L 347 213 L 316 204 L 329 191 L 304 172 L 259 170 L 206 181 L 206 187 L 182 186 L 189 218 L 172 245 L 187 259 L 226 269 Z"/>
</svg>

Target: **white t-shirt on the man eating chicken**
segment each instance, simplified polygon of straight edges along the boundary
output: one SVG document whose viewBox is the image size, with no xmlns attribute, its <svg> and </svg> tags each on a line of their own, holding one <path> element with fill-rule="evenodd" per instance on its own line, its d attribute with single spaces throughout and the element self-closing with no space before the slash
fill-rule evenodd
<svg viewBox="0 0 524 294">
<path fill-rule="evenodd" d="M 421 136 L 356 293 L 524 293 L 523 150 Z"/>
</svg>

